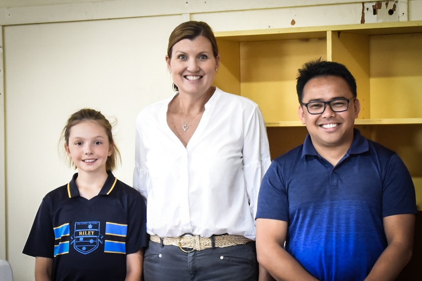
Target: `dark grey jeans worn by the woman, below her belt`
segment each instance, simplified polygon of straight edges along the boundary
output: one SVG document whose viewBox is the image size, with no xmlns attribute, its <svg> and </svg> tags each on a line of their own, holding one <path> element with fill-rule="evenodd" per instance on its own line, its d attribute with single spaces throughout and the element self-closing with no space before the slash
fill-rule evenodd
<svg viewBox="0 0 422 281">
<path fill-rule="evenodd" d="M 150 241 L 145 249 L 143 278 L 145 281 L 258 281 L 255 241 L 191 253 Z"/>
</svg>

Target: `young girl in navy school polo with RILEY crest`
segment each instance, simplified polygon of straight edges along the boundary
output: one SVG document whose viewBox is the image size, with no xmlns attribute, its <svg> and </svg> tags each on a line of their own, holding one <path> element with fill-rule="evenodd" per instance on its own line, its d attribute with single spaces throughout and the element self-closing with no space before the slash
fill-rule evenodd
<svg viewBox="0 0 422 281">
<path fill-rule="evenodd" d="M 145 204 L 111 172 L 120 159 L 112 126 L 85 108 L 62 138 L 78 173 L 44 197 L 35 217 L 23 249 L 36 257 L 35 280 L 141 280 Z"/>
</svg>

